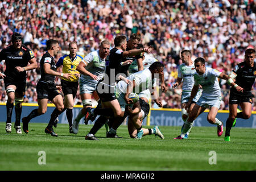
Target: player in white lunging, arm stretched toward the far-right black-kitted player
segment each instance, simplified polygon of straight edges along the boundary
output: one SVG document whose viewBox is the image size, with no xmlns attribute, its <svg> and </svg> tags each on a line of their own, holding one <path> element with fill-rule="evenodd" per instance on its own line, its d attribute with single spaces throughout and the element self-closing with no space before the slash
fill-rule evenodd
<svg viewBox="0 0 256 182">
<path fill-rule="evenodd" d="M 192 110 L 189 110 L 189 116 L 185 122 L 183 130 L 181 131 L 181 135 L 174 139 L 184 139 L 187 131 L 191 129 L 193 121 L 195 121 L 195 119 L 207 108 L 209 108 L 209 113 L 207 115 L 208 122 L 212 125 L 217 125 L 218 137 L 220 137 L 223 133 L 223 123 L 216 118 L 218 109 L 220 108 L 221 104 L 221 89 L 220 84 L 218 83 L 218 78 L 229 80 L 230 77 L 217 71 L 216 69 L 205 67 L 205 60 L 203 57 L 198 57 L 195 60 L 195 69 L 195 84 L 191 91 L 191 96 L 188 100 L 188 103 L 185 105 L 185 109 L 190 107 L 193 98 L 196 96 L 199 90 L 199 84 L 202 86 L 203 92 Z M 230 83 L 230 85 L 234 86 L 236 84 L 233 82 Z M 237 89 L 242 90 L 242 88 L 239 86 L 237 86 Z"/>
</svg>

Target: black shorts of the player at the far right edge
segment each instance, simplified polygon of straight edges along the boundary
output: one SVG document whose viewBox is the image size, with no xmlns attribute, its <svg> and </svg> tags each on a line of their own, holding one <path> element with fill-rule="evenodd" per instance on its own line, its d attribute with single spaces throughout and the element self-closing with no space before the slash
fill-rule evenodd
<svg viewBox="0 0 256 182">
<path fill-rule="evenodd" d="M 242 102 L 249 102 L 253 104 L 253 94 L 251 92 L 246 92 L 243 94 L 237 94 L 235 92 L 230 91 L 229 94 L 229 104 L 240 104 Z"/>
</svg>

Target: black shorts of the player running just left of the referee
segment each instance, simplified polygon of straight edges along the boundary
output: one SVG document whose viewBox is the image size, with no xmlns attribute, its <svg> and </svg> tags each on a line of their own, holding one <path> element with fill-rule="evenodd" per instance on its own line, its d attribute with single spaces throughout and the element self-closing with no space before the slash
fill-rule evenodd
<svg viewBox="0 0 256 182">
<path fill-rule="evenodd" d="M 39 80 L 36 85 L 36 93 L 38 93 L 38 99 L 48 98 L 52 101 L 54 97 L 60 94 L 60 91 L 56 89 L 54 83 Z"/>
</svg>

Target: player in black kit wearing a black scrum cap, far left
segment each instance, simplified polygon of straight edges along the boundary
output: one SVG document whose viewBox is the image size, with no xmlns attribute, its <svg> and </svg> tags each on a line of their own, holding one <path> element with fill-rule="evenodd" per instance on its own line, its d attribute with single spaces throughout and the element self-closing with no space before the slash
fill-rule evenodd
<svg viewBox="0 0 256 182">
<path fill-rule="evenodd" d="M 15 101 L 15 124 L 17 134 L 20 130 L 20 115 L 22 113 L 22 102 L 26 89 L 26 71 L 38 67 L 34 53 L 22 44 L 22 36 L 14 33 L 11 36 L 12 45 L 2 49 L 0 62 L 5 60 L 5 73 L 0 73 L 0 79 L 4 79 L 8 100 L 6 102 L 6 127 L 7 133 L 11 133 L 11 115 Z M 28 65 L 30 63 L 30 65 Z"/>
</svg>

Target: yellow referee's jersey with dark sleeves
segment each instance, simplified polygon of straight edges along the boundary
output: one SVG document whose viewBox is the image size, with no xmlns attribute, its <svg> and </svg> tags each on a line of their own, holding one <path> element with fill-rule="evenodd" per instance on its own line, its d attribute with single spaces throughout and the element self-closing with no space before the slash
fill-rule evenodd
<svg viewBox="0 0 256 182">
<path fill-rule="evenodd" d="M 71 73 L 72 76 L 69 77 L 70 79 L 61 77 L 61 79 L 65 81 L 71 81 L 71 82 L 76 82 L 78 81 L 79 78 L 75 76 L 76 73 L 79 74 L 79 71 L 76 70 L 77 66 L 79 65 L 80 61 L 82 60 L 82 56 L 76 55 L 74 59 L 71 59 L 69 55 L 64 55 L 60 57 L 60 59 L 56 63 L 56 67 L 60 67 L 63 65 L 62 72 L 63 73 Z"/>
</svg>

